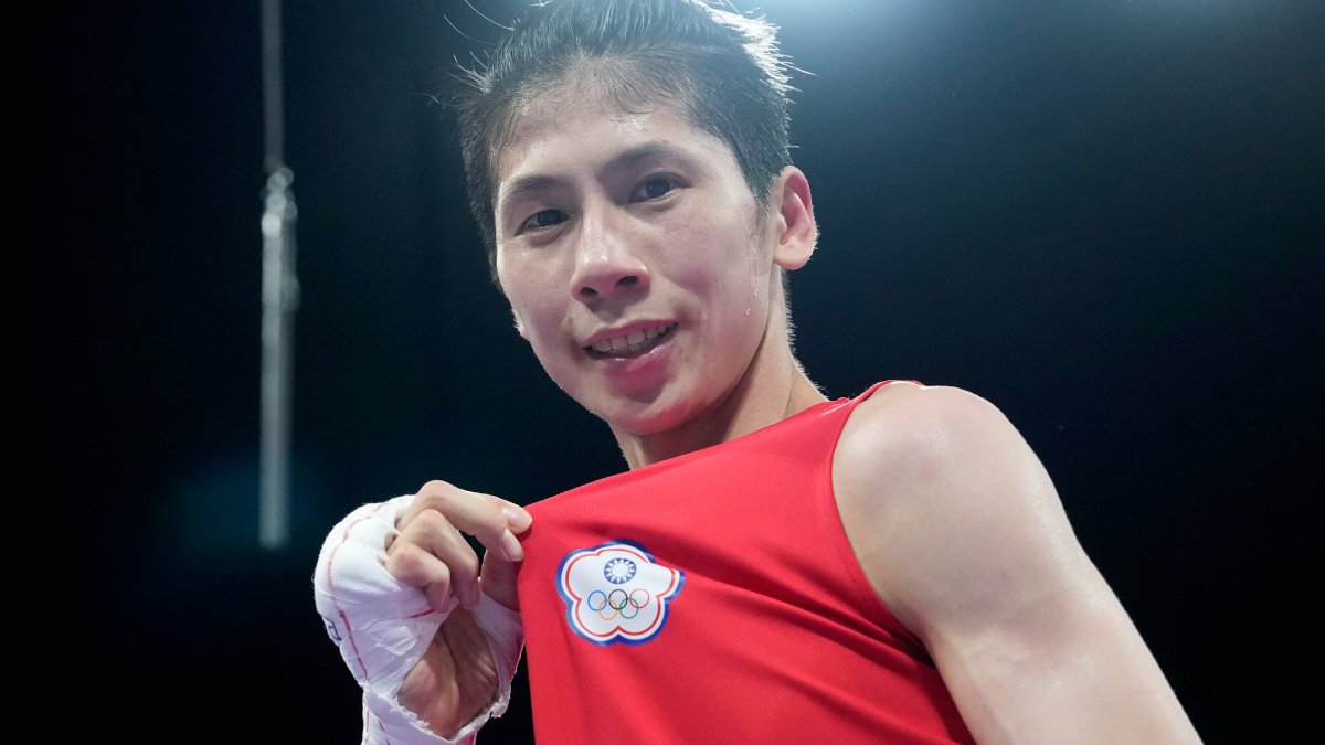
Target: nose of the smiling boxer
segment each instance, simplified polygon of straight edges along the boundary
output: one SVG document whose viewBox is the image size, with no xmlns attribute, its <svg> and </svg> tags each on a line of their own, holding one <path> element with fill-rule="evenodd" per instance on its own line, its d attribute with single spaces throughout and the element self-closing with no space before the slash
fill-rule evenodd
<svg viewBox="0 0 1325 745">
<path fill-rule="evenodd" d="M 586 211 L 575 257 L 571 292 L 580 302 L 595 302 L 648 288 L 649 270 L 631 236 L 606 211 Z"/>
</svg>

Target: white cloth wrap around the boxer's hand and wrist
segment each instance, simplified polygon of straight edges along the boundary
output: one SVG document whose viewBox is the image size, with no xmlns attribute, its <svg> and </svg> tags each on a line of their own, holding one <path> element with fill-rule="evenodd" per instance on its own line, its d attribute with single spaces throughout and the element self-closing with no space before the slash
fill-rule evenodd
<svg viewBox="0 0 1325 745">
<path fill-rule="evenodd" d="M 445 611 L 439 612 L 423 590 L 401 583 L 383 566 L 387 538 L 396 534 L 396 520 L 412 500 L 413 494 L 405 494 L 367 504 L 338 522 L 318 554 L 313 597 L 327 634 L 363 688 L 366 745 L 469 744 L 489 718 L 506 712 L 525 630 L 519 614 L 481 595 L 472 612 L 497 665 L 497 697 L 452 740 L 439 737 L 400 705 L 400 683 L 423 658 L 441 622 L 460 604 L 452 595 Z"/>
</svg>

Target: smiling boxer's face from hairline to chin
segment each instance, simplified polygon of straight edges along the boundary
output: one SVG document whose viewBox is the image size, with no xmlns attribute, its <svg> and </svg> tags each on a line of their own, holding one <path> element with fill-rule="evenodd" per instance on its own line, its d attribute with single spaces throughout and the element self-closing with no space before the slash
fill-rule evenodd
<svg viewBox="0 0 1325 745">
<path fill-rule="evenodd" d="M 517 327 L 615 428 L 702 416 L 784 322 L 776 217 L 761 220 L 731 151 L 668 106 L 543 97 L 521 111 L 497 182 L 497 276 Z"/>
</svg>

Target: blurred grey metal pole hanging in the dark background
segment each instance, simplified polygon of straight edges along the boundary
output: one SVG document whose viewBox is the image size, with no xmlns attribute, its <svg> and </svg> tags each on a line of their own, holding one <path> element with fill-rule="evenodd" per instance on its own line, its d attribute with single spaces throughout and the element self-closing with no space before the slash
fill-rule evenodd
<svg viewBox="0 0 1325 745">
<path fill-rule="evenodd" d="M 290 534 L 290 388 L 294 310 L 294 174 L 282 154 L 281 3 L 262 0 L 262 103 L 266 184 L 262 188 L 262 420 L 258 542 L 281 549 Z"/>
</svg>

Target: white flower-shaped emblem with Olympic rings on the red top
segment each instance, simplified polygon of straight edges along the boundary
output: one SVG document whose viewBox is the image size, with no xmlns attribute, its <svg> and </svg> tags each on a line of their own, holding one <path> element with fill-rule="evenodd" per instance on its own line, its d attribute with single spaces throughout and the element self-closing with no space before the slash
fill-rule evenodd
<svg viewBox="0 0 1325 745">
<path fill-rule="evenodd" d="M 662 566 L 641 546 L 611 541 L 566 554 L 556 590 L 571 631 L 599 646 L 643 644 L 666 623 L 668 602 L 685 574 Z"/>
</svg>

